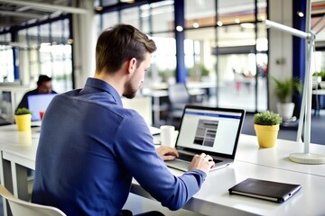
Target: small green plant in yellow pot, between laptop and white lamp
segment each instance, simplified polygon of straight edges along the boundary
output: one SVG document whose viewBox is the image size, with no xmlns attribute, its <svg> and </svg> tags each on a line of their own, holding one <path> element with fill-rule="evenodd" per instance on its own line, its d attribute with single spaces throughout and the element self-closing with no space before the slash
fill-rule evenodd
<svg viewBox="0 0 325 216">
<path fill-rule="evenodd" d="M 272 148 L 275 145 L 282 117 L 271 111 L 254 115 L 254 129 L 261 148 Z"/>
</svg>

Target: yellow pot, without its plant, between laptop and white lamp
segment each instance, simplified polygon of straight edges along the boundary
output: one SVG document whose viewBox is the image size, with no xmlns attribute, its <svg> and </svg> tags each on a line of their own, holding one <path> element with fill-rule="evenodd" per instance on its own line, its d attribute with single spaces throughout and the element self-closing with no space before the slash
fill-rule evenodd
<svg viewBox="0 0 325 216">
<path fill-rule="evenodd" d="M 259 125 L 254 124 L 258 144 L 261 148 L 272 148 L 275 146 L 279 124 L 277 125 Z"/>
</svg>

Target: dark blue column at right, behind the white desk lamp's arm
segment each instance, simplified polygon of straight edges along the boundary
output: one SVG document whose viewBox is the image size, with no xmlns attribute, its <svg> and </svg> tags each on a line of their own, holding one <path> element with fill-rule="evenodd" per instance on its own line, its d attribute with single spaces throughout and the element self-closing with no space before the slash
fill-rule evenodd
<svg viewBox="0 0 325 216">
<path fill-rule="evenodd" d="M 292 27 L 297 30 L 306 31 L 306 9 L 307 1 L 299 0 L 292 1 Z M 297 12 L 305 14 L 300 17 Z M 306 47 L 305 40 L 299 37 L 292 36 L 292 76 L 304 80 L 306 66 Z M 292 102 L 295 103 L 293 115 L 300 114 L 302 104 L 302 94 L 293 95 Z"/>
</svg>

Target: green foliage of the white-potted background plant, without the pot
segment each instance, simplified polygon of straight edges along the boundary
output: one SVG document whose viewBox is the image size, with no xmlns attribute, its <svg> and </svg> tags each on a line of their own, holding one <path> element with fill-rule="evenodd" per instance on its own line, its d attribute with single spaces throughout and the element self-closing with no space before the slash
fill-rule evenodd
<svg viewBox="0 0 325 216">
<path fill-rule="evenodd" d="M 292 77 L 280 80 L 272 77 L 272 79 L 275 83 L 274 94 L 280 103 L 291 102 L 292 94 L 296 91 L 302 93 L 302 82 L 298 78 Z"/>
</svg>

